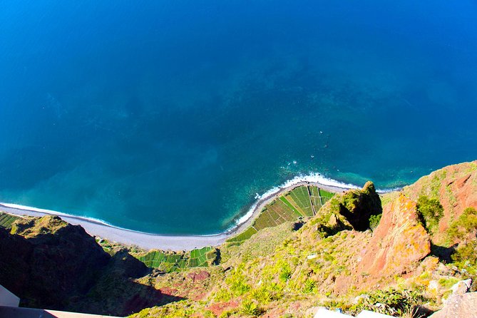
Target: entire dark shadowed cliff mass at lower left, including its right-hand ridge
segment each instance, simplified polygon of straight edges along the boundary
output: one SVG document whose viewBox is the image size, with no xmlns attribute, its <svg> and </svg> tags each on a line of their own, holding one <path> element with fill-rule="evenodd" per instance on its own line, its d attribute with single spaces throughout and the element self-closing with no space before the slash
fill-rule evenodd
<svg viewBox="0 0 477 318">
<path fill-rule="evenodd" d="M 79 225 L 27 217 L 0 228 L 0 284 L 21 306 L 125 316 L 178 300 L 135 282 L 149 270 L 120 250 L 113 256 Z"/>
</svg>

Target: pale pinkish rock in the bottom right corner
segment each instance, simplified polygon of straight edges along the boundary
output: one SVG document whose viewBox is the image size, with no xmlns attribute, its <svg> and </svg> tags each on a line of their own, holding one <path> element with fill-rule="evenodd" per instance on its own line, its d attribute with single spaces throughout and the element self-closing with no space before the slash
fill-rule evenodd
<svg viewBox="0 0 477 318">
<path fill-rule="evenodd" d="M 441 310 L 429 316 L 429 318 L 448 317 L 477 318 L 477 292 L 452 295 Z"/>
</svg>

